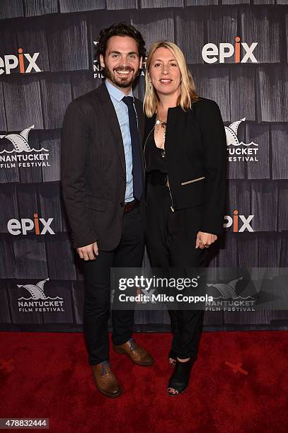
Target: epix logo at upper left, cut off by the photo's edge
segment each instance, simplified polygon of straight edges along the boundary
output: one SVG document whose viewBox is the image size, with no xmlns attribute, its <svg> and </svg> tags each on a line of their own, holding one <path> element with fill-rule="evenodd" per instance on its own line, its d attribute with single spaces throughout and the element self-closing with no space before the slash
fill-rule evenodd
<svg viewBox="0 0 288 433">
<path fill-rule="evenodd" d="M 22 48 L 18 48 L 18 56 L 8 54 L 4 57 L 0 57 L 0 75 L 10 75 L 11 69 L 16 68 L 18 68 L 21 74 L 29 74 L 33 69 L 35 72 L 41 72 L 41 69 L 36 64 L 39 54 L 40 52 L 35 52 L 30 56 L 27 52 L 23 53 Z"/>
</svg>

